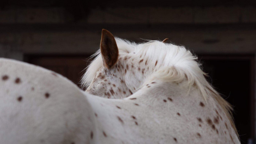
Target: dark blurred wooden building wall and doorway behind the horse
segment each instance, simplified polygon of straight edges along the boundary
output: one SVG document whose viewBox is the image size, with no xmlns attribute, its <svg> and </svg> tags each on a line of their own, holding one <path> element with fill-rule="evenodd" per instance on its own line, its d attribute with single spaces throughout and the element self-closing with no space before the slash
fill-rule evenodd
<svg viewBox="0 0 256 144">
<path fill-rule="evenodd" d="M 241 143 L 255 143 L 255 0 L 1 0 L 0 57 L 79 84 L 101 30 L 163 40 L 197 54 L 209 82 L 234 106 Z"/>
</svg>

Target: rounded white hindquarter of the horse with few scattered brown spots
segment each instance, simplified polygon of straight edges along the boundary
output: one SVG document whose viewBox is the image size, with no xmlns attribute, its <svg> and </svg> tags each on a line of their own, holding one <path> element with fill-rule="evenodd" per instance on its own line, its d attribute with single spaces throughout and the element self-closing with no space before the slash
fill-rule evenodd
<svg viewBox="0 0 256 144">
<path fill-rule="evenodd" d="M 82 110 L 91 107 L 83 92 L 63 76 L 0 58 L 0 86 L 1 143 L 70 144 L 89 136 L 78 133 L 86 129 L 79 125 L 88 116 Z"/>
</svg>

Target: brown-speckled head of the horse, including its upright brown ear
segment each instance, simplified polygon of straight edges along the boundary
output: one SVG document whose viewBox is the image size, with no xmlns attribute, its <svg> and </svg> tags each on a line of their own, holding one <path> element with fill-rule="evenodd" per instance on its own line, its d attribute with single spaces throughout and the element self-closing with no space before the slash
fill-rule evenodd
<svg viewBox="0 0 256 144">
<path fill-rule="evenodd" d="M 100 50 L 82 79 L 89 86 L 87 92 L 106 98 L 125 98 L 141 85 L 145 66 L 140 67 L 141 59 L 129 48 L 132 43 L 116 39 L 109 31 L 102 30 Z"/>
</svg>

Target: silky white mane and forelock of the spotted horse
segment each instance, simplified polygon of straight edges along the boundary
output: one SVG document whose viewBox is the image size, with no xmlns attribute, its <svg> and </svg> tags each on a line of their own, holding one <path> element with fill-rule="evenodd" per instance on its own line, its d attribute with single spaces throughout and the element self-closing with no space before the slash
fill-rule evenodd
<svg viewBox="0 0 256 144">
<path fill-rule="evenodd" d="M 158 70 L 148 77 L 144 84 L 153 79 L 162 79 L 177 83 L 187 80 L 189 89 L 192 86 L 196 86 L 206 101 L 207 96 L 212 96 L 219 103 L 237 133 L 231 113 L 233 110 L 231 105 L 207 82 L 204 77 L 206 73 L 200 68 L 201 64 L 197 61 L 197 57 L 184 48 L 184 46 L 163 43 L 161 41 L 147 41 L 137 44 L 120 38 L 115 39 L 121 57 L 135 52 L 135 56 L 148 58 L 148 65 L 155 65 L 155 62 L 158 61 L 158 65 L 156 66 Z M 86 68 L 87 70 L 81 80 L 82 87 L 89 86 L 96 72 L 99 68 L 103 67 L 100 50 L 91 58 L 94 58 L 94 60 Z"/>
</svg>

